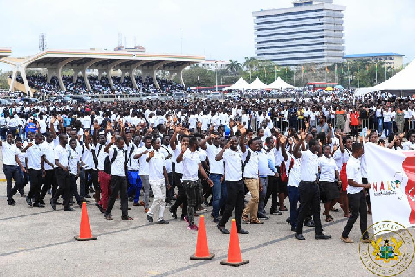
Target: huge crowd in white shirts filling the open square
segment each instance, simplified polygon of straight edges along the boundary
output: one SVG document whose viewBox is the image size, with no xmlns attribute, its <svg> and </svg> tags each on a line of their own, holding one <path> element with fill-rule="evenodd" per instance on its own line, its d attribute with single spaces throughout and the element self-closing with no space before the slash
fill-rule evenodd
<svg viewBox="0 0 415 277">
<path fill-rule="evenodd" d="M 326 222 L 333 222 L 338 203 L 349 218 L 341 240 L 353 242 L 349 232 L 360 217 L 363 240 L 370 242 L 365 143 L 415 149 L 413 99 L 381 93 L 354 103 L 351 93 L 320 92 L 286 101 L 44 102 L 0 109 L 9 205 L 17 192 L 28 205 L 49 202 L 53 210 L 95 201 L 112 220 L 119 197 L 122 220 L 133 220 L 128 211 L 138 206 L 149 222 L 168 224 L 168 206 L 190 230 L 198 230 L 194 217 L 212 206 L 212 220 L 225 234 L 233 212 L 241 234 L 248 234 L 243 224 L 286 213 L 295 238 L 304 240 L 309 226 L 316 239 L 329 239 L 320 215 L 324 202 Z"/>
</svg>

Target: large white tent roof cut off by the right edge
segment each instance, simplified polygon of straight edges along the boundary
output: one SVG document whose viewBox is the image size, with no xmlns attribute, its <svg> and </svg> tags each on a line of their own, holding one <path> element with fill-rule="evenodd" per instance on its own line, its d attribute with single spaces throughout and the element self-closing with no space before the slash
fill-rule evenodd
<svg viewBox="0 0 415 277">
<path fill-rule="evenodd" d="M 405 69 L 390 79 L 376 84 L 374 87 L 362 87 L 356 89 L 354 96 L 361 96 L 374 91 L 415 91 L 415 60 L 408 64 Z"/>
</svg>

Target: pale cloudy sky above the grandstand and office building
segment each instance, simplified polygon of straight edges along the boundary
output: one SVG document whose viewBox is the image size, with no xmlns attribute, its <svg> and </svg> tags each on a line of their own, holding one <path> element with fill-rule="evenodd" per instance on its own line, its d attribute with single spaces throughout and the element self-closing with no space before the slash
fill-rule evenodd
<svg viewBox="0 0 415 277">
<path fill-rule="evenodd" d="M 346 6 L 346 54 L 396 52 L 414 59 L 414 0 L 333 0 Z M 238 60 L 254 56 L 252 11 L 291 7 L 291 0 L 0 0 L 0 47 L 35 55 L 39 33 L 50 49 L 145 46 L 149 53 Z M 125 38 L 125 40 L 124 40 Z M 0 69 L 10 69 L 0 65 Z"/>
</svg>

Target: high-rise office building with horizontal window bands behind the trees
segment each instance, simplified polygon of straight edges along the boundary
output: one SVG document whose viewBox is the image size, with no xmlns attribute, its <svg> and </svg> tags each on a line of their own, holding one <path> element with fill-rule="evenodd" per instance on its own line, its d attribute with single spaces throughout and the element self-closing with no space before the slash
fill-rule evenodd
<svg viewBox="0 0 415 277">
<path fill-rule="evenodd" d="M 293 0 L 293 7 L 252 12 L 255 56 L 283 66 L 327 65 L 344 56 L 345 6 Z"/>
</svg>

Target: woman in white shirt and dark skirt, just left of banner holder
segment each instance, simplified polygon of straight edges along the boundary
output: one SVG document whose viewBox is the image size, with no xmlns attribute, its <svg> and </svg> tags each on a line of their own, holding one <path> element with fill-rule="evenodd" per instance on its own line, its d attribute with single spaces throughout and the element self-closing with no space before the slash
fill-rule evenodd
<svg viewBox="0 0 415 277">
<path fill-rule="evenodd" d="M 330 215 L 330 209 L 338 202 L 340 198 L 339 188 L 335 184 L 335 178 L 340 181 L 338 167 L 333 157 L 331 157 L 331 146 L 329 144 L 323 147 L 323 156 L 317 159 L 318 168 L 320 171 L 319 184 L 326 195 L 326 202 L 324 203 L 324 213 L 326 215 L 326 222 L 333 222 L 333 217 Z"/>
</svg>

